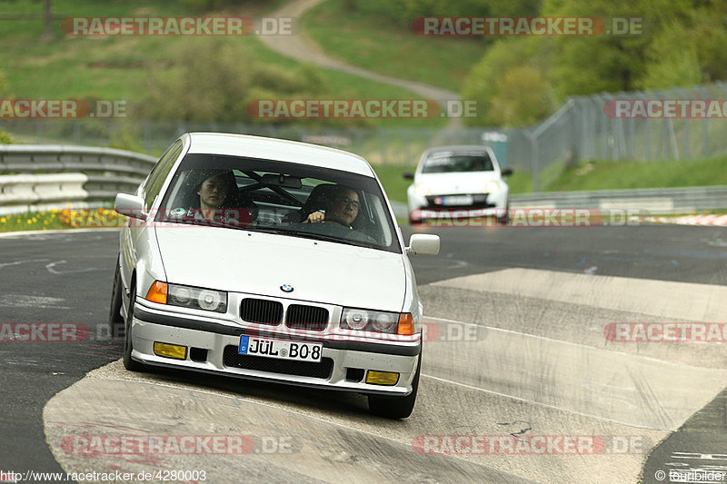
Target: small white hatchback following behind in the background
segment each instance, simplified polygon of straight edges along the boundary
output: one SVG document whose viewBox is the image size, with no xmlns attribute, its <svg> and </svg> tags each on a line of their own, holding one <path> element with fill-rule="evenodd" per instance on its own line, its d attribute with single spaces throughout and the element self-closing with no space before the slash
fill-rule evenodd
<svg viewBox="0 0 727 484">
<path fill-rule="evenodd" d="M 510 220 L 508 186 L 493 151 L 487 146 L 437 146 L 426 150 L 406 191 L 409 222 L 428 219 L 497 217 Z"/>
</svg>

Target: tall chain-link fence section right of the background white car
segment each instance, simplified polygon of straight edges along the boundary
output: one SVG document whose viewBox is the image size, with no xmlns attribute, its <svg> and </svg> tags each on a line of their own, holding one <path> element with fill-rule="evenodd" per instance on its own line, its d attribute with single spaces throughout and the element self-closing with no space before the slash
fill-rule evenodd
<svg viewBox="0 0 727 484">
<path fill-rule="evenodd" d="M 537 191 L 538 175 L 557 162 L 721 155 L 727 153 L 726 128 L 727 84 L 718 82 L 572 97 L 543 123 L 500 133 L 507 137 L 508 162 L 523 169 L 529 164 Z"/>
</svg>

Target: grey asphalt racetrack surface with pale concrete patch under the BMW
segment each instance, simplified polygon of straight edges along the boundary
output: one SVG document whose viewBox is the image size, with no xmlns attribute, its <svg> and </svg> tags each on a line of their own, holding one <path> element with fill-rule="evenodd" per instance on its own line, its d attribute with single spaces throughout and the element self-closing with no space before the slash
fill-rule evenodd
<svg viewBox="0 0 727 484">
<path fill-rule="evenodd" d="M 398 421 L 355 394 L 125 371 L 105 326 L 118 232 L 3 236 L 0 329 L 88 334 L 0 339 L 0 470 L 174 470 L 175 482 L 213 483 L 631 483 L 727 470 L 727 354 L 703 324 L 727 322 L 724 228 L 413 231 L 439 233 L 442 251 L 412 258 L 427 334 L 416 407 Z M 609 330 L 629 323 L 711 339 Z"/>
</svg>

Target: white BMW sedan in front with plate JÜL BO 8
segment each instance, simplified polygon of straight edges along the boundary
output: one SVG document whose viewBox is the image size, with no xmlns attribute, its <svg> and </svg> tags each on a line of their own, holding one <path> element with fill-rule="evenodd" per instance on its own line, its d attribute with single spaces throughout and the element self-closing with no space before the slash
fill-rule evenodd
<svg viewBox="0 0 727 484">
<path fill-rule="evenodd" d="M 352 153 L 187 133 L 135 194 L 120 236 L 110 318 L 127 370 L 174 367 L 368 395 L 408 417 L 422 303 L 381 183 Z"/>
</svg>

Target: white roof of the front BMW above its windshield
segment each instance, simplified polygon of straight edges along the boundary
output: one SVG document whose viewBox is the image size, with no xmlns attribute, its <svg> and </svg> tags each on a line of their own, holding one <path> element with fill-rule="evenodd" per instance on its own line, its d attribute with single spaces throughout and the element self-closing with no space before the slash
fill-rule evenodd
<svg viewBox="0 0 727 484">
<path fill-rule="evenodd" d="M 369 163 L 361 156 L 317 144 L 233 133 L 186 133 L 187 153 L 214 153 L 245 156 L 288 163 L 301 163 L 343 170 L 373 177 Z"/>
</svg>

